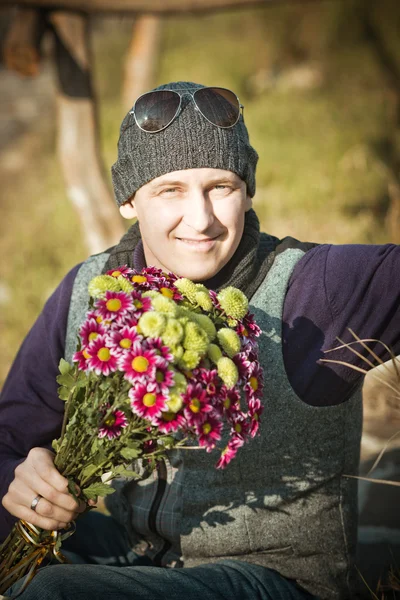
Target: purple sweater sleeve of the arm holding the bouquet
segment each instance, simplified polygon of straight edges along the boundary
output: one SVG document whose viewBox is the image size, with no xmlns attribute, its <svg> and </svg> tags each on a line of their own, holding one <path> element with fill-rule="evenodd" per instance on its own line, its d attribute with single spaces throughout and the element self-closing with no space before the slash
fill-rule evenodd
<svg viewBox="0 0 400 600">
<path fill-rule="evenodd" d="M 58 437 L 64 403 L 57 395 L 56 376 L 64 356 L 65 334 L 74 267 L 46 302 L 22 343 L 0 396 L 0 496 L 7 492 L 14 470 L 31 448 L 51 448 Z M 0 540 L 15 518 L 0 506 Z"/>
</svg>

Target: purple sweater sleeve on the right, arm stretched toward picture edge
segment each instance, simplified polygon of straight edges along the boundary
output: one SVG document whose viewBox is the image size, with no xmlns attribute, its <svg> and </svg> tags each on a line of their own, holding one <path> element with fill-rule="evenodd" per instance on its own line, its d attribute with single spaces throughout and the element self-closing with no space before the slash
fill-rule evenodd
<svg viewBox="0 0 400 600">
<path fill-rule="evenodd" d="M 297 263 L 284 304 L 283 355 L 297 395 L 314 406 L 347 400 L 362 382 L 362 374 L 321 358 L 367 368 L 348 349 L 326 354 L 350 342 L 352 329 L 360 338 L 386 343 L 400 353 L 400 246 L 321 245 Z M 369 346 L 387 360 L 379 343 Z M 366 351 L 358 347 L 362 354 Z M 376 362 L 376 361 L 372 361 Z"/>
</svg>

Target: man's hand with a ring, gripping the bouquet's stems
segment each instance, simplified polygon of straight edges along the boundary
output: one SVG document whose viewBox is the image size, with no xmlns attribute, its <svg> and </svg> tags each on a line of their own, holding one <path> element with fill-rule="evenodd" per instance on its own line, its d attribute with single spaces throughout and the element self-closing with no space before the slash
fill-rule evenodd
<svg viewBox="0 0 400 600">
<path fill-rule="evenodd" d="M 41 498 L 32 510 L 36 496 Z M 46 530 L 63 529 L 86 508 L 68 492 L 68 480 L 55 468 L 53 452 L 45 448 L 32 448 L 18 465 L 2 504 L 15 517 Z"/>
</svg>

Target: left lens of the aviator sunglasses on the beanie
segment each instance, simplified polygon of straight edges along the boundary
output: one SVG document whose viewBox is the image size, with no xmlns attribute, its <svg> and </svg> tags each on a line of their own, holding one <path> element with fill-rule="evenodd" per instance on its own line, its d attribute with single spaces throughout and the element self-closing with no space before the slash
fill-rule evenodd
<svg viewBox="0 0 400 600">
<path fill-rule="evenodd" d="M 136 122 L 145 131 L 160 131 L 174 119 L 179 103 L 176 92 L 160 90 L 144 94 L 135 103 Z"/>
</svg>

